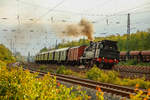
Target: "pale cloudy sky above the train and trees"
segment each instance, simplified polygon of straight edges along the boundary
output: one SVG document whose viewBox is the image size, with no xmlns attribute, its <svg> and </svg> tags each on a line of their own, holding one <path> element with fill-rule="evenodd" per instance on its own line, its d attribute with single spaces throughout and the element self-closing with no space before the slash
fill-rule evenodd
<svg viewBox="0 0 150 100">
<path fill-rule="evenodd" d="M 126 34 L 130 13 L 131 33 L 150 28 L 149 0 L 0 0 L 0 43 L 13 52 L 35 55 L 62 40 L 57 29 L 85 18 L 93 23 L 94 36 Z M 54 27 L 55 26 L 55 30 Z"/>
</svg>

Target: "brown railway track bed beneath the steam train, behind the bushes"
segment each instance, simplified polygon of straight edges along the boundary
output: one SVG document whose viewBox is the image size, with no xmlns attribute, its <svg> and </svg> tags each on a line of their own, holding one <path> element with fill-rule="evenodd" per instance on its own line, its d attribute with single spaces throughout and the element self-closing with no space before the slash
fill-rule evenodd
<svg viewBox="0 0 150 100">
<path fill-rule="evenodd" d="M 39 65 L 37 64 L 29 64 L 25 66 L 32 66 L 31 68 L 37 68 L 39 69 Z M 54 67 L 55 66 L 55 67 Z M 71 70 L 75 72 L 81 72 L 81 73 L 86 73 L 89 69 L 81 69 L 81 68 L 76 68 L 73 66 L 67 66 Z M 48 64 L 47 68 L 52 69 L 52 70 L 57 70 L 56 65 L 51 65 Z M 111 71 L 111 69 L 103 69 L 104 71 Z M 143 78 L 145 77 L 146 81 L 150 81 L 150 67 L 143 67 L 143 66 L 114 66 L 112 70 L 117 71 L 119 73 L 120 78 L 130 78 L 130 79 L 135 79 L 135 78 Z"/>
</svg>

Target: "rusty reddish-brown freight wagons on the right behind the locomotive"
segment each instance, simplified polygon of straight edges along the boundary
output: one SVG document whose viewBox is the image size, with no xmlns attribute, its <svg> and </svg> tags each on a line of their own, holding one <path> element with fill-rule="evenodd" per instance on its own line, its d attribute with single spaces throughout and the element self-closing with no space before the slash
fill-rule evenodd
<svg viewBox="0 0 150 100">
<path fill-rule="evenodd" d="M 120 61 L 134 59 L 137 62 L 150 62 L 150 51 L 120 52 Z"/>
</svg>

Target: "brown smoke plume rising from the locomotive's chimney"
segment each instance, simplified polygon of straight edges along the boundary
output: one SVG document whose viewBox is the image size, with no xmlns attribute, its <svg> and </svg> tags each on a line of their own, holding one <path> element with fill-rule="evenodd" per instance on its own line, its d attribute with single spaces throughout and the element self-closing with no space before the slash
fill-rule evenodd
<svg viewBox="0 0 150 100">
<path fill-rule="evenodd" d="M 80 37 L 86 36 L 90 41 L 94 40 L 93 37 L 94 29 L 93 24 L 86 19 L 81 19 L 78 24 L 70 24 L 64 27 L 61 32 L 61 36 L 69 37 Z"/>
</svg>

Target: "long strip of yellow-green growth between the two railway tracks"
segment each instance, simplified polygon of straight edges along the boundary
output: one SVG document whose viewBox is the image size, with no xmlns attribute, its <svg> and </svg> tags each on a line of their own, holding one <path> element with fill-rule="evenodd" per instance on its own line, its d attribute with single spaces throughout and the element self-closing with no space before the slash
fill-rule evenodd
<svg viewBox="0 0 150 100">
<path fill-rule="evenodd" d="M 46 66 L 40 66 L 40 69 L 46 70 Z M 49 72 L 54 72 L 53 70 L 49 69 L 47 70 Z M 103 70 L 100 70 L 96 66 L 88 70 L 87 72 L 75 72 L 71 69 L 68 69 L 64 65 L 59 66 L 56 70 L 57 74 L 64 74 L 64 75 L 73 75 L 80 78 L 87 78 L 90 80 L 95 80 L 99 82 L 105 82 L 105 83 L 111 83 L 111 84 L 118 84 L 118 85 L 124 85 L 124 86 L 131 86 L 134 87 L 136 84 L 139 84 L 139 88 L 147 89 L 150 88 L 150 81 L 145 81 L 145 78 L 136 78 L 136 79 L 129 79 L 119 78 L 119 73 L 116 71 L 108 71 L 105 72 Z"/>
</svg>

